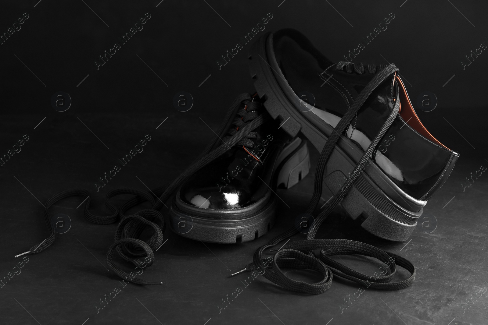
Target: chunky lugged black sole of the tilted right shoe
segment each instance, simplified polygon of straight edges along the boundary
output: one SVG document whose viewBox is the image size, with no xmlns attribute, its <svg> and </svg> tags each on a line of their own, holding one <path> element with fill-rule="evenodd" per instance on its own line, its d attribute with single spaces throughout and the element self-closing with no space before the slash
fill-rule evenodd
<svg viewBox="0 0 488 325">
<path fill-rule="evenodd" d="M 311 112 L 308 118 L 300 110 L 300 98 L 279 74 L 280 68 L 272 55 L 272 39 L 266 34 L 254 42 L 250 49 L 249 67 L 254 86 L 264 107 L 291 136 L 299 132 L 319 152 L 333 129 Z M 268 55 L 271 54 L 271 55 Z M 350 139 L 341 135 L 329 157 L 324 183 L 337 193 L 353 172 L 364 154 Z M 353 219 L 363 220 L 361 226 L 370 233 L 391 241 L 404 241 L 417 225 L 427 201 L 417 200 L 394 184 L 371 160 L 353 183 L 341 205 Z"/>
</svg>

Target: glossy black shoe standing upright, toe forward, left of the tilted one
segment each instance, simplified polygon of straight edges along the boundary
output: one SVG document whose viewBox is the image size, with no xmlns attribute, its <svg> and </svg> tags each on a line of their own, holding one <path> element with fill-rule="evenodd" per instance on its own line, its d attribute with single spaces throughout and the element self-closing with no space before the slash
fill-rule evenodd
<svg viewBox="0 0 488 325">
<path fill-rule="evenodd" d="M 257 96 L 242 101 L 221 143 L 257 116 L 264 123 L 188 178 L 170 211 L 176 233 L 213 243 L 246 242 L 274 223 L 276 187 L 290 188 L 308 173 L 306 140 L 290 137 Z"/>
</svg>

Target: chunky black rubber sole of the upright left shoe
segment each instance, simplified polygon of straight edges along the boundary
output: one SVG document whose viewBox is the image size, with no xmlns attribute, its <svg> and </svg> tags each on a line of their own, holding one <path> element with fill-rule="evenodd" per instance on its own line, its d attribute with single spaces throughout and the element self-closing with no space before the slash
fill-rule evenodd
<svg viewBox="0 0 488 325">
<path fill-rule="evenodd" d="M 310 170 L 307 141 L 296 138 L 276 162 L 273 184 L 286 189 L 297 184 Z M 170 209 L 170 226 L 177 234 L 209 243 L 244 243 L 264 235 L 274 225 L 276 197 L 269 189 L 250 207 L 233 210 L 198 209 L 183 203 L 180 192 Z"/>
</svg>

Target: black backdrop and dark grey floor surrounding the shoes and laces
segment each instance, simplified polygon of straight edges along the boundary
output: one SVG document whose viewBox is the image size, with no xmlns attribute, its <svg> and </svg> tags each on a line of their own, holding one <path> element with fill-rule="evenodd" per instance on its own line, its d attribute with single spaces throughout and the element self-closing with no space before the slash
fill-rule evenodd
<svg viewBox="0 0 488 325">
<path fill-rule="evenodd" d="M 273 18 L 264 32 L 296 28 L 332 61 L 342 60 L 393 13 L 386 31 L 355 60 L 395 63 L 414 106 L 419 94 L 435 94 L 437 107 L 417 113 L 427 129 L 461 158 L 425 210 L 430 222 L 436 216 L 439 228 L 426 234 L 419 224 L 405 248 L 405 243 L 370 236 L 336 211 L 323 236 L 363 240 L 403 254 L 419 268 L 412 287 L 399 292 L 368 290 L 344 314 L 338 306 L 357 290 L 345 282 L 334 282 L 325 294 L 303 296 L 258 279 L 246 288 L 242 303 L 222 314 L 215 307 L 246 277 L 228 278 L 229 269 L 244 267 L 257 247 L 286 229 L 306 207 L 312 191 L 310 175 L 295 188 L 279 192 L 292 209 L 279 207 L 284 222 L 254 242 L 205 247 L 166 230 L 168 242 L 143 276 L 164 284 L 130 285 L 100 314 L 93 306 L 118 286 L 118 279 L 102 267 L 115 225 L 97 226 L 85 220 L 81 208 L 76 210 L 82 199 L 61 201 L 55 210 L 70 216 L 72 228 L 58 235 L 49 249 L 29 255 L 22 273 L 0 289 L 3 324 L 82 324 L 87 318 L 87 325 L 159 321 L 203 325 L 209 318 L 208 325 L 281 324 L 278 318 L 284 324 L 326 324 L 332 318 L 330 325 L 448 324 L 453 318 L 452 324 L 487 323 L 486 296 L 469 310 L 463 310 L 468 306 L 463 304 L 470 294 L 488 286 L 484 280 L 488 186 L 481 177 L 466 192 L 459 185 L 488 157 L 484 132 L 488 54 L 484 51 L 465 70 L 461 63 L 471 50 L 488 44 L 487 2 L 4 1 L 0 33 L 25 12 L 29 18 L 20 31 L 0 45 L 0 155 L 23 134 L 30 137 L 22 151 L 0 168 L 0 276 L 18 262 L 14 255 L 45 238 L 40 202 L 54 193 L 86 188 L 93 195 L 92 206 L 103 213 L 107 191 L 121 186 L 153 188 L 182 172 L 213 137 L 210 129 L 217 129 L 235 96 L 254 91 L 247 67 L 250 44 L 221 70 L 217 61 L 268 13 Z M 151 18 L 143 30 L 97 70 L 99 56 L 120 43 L 119 37 L 145 13 Z M 72 99 L 65 112 L 51 106 L 51 96 L 60 91 Z M 191 110 L 184 113 L 172 103 L 180 91 L 194 99 Z M 145 134 L 152 140 L 144 152 L 96 193 L 98 178 Z M 346 261 L 354 265 L 359 260 Z"/>
</svg>

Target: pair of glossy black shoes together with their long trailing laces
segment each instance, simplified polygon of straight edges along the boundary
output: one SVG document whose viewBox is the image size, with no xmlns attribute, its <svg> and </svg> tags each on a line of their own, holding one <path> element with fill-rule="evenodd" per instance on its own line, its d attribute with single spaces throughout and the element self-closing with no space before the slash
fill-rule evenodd
<svg viewBox="0 0 488 325">
<path fill-rule="evenodd" d="M 309 172 L 307 144 L 311 143 L 321 154 L 308 208 L 297 224 L 260 247 L 244 270 L 257 270 L 281 287 L 311 294 L 325 292 L 332 274 L 377 289 L 410 286 L 415 268 L 401 256 L 352 240 L 315 239 L 321 223 L 341 204 L 353 219 L 361 218 L 361 226 L 372 234 L 406 240 L 427 200 L 454 167 L 458 154 L 422 125 L 398 68 L 393 64 L 333 63 L 291 29 L 258 39 L 249 59 L 257 94 L 235 99 L 217 136 L 168 187 L 110 191 L 106 207 L 112 213 L 105 216 L 88 210 L 86 190 L 57 193 L 45 203 L 49 237 L 18 256 L 47 249 L 56 236 L 48 209 L 65 197 L 82 196 L 86 197 L 85 217 L 91 222 L 120 221 L 107 252 L 108 267 L 129 282 L 160 284 L 134 278 L 113 262 L 113 254 L 117 251 L 138 267 L 151 265 L 155 251 L 163 245 L 165 218 L 160 210 L 175 192 L 169 221 L 176 233 L 203 242 L 253 240 L 275 222 L 276 188 L 290 188 Z M 324 185 L 333 197 L 316 213 Z M 120 194 L 134 197 L 115 207 L 110 199 Z M 125 214 L 144 201 L 152 208 Z M 148 227 L 153 229 L 152 235 L 142 240 Z M 283 248 L 281 242 L 299 231 L 307 234 L 307 240 L 291 241 Z M 277 245 L 283 249 L 274 253 L 271 262 L 264 260 L 265 250 Z M 371 283 L 370 276 L 330 258 L 337 254 L 375 257 L 389 271 Z M 390 282 L 397 265 L 411 275 Z M 323 279 L 311 284 L 296 281 L 282 268 L 312 269 Z"/>
</svg>

